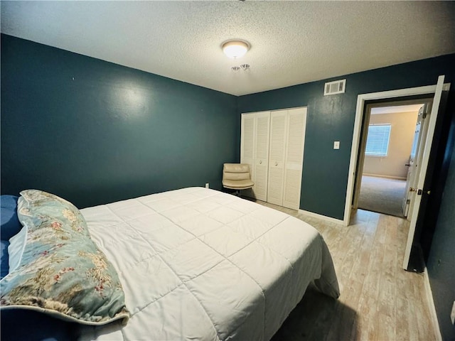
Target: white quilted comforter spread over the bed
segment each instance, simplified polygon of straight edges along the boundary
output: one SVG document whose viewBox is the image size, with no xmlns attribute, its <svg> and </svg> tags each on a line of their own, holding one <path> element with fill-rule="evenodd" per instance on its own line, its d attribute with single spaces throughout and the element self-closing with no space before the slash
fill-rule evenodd
<svg viewBox="0 0 455 341">
<path fill-rule="evenodd" d="M 269 340 L 311 281 L 339 295 L 316 229 L 234 195 L 184 188 L 81 212 L 132 313 L 85 340 Z"/>
</svg>

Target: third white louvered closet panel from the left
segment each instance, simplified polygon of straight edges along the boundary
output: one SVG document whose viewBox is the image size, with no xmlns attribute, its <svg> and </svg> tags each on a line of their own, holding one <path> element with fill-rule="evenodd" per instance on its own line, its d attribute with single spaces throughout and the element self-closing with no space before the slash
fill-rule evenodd
<svg viewBox="0 0 455 341">
<path fill-rule="evenodd" d="M 283 205 L 284 157 L 286 155 L 287 110 L 270 113 L 269 181 L 267 202 Z"/>
</svg>

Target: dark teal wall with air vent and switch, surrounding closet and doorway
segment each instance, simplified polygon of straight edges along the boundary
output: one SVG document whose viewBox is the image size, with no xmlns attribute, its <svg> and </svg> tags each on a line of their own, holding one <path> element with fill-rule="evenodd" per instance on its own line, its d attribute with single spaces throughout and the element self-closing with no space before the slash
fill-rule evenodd
<svg viewBox="0 0 455 341">
<path fill-rule="evenodd" d="M 455 54 L 248 94 L 239 97 L 238 112 L 308 107 L 300 208 L 343 220 L 358 94 L 434 85 L 439 75 L 455 83 Z M 344 78 L 344 94 L 323 96 L 324 82 Z"/>
</svg>

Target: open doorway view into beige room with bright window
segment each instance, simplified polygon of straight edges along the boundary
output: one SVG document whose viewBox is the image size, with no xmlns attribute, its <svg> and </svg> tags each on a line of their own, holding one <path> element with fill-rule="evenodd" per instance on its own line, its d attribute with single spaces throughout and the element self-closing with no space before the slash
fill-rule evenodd
<svg viewBox="0 0 455 341">
<path fill-rule="evenodd" d="M 360 141 L 356 207 L 408 217 L 419 124 L 429 100 L 367 104 Z M 414 172 L 415 173 L 415 172 Z"/>
</svg>

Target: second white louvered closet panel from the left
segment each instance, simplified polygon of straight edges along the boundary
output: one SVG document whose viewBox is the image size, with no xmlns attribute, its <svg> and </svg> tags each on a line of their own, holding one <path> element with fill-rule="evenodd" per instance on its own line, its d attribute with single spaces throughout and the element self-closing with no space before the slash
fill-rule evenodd
<svg viewBox="0 0 455 341">
<path fill-rule="evenodd" d="M 257 200 L 267 201 L 267 174 L 269 172 L 270 112 L 255 114 L 255 186 L 253 192 Z"/>
</svg>

